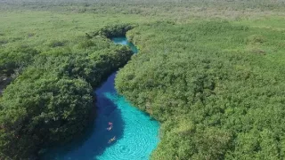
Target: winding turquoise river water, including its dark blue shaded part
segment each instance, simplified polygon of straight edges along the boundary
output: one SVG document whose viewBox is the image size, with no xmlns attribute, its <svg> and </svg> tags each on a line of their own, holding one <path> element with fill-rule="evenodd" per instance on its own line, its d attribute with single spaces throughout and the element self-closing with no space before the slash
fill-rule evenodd
<svg viewBox="0 0 285 160">
<path fill-rule="evenodd" d="M 137 52 L 126 37 L 112 39 L 115 44 L 124 44 Z M 50 149 L 42 159 L 67 160 L 146 160 L 159 142 L 159 123 L 137 108 L 131 106 L 114 88 L 113 73 L 98 88 L 97 116 L 94 125 L 83 140 L 68 146 Z M 110 131 L 107 130 L 112 123 Z M 114 138 L 115 140 L 110 141 Z"/>
</svg>

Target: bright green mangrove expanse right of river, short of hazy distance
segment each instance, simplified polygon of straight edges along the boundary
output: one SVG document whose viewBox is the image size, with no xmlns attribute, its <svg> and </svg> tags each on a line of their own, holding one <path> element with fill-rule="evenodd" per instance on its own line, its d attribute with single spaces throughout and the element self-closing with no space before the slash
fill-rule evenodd
<svg viewBox="0 0 285 160">
<path fill-rule="evenodd" d="M 162 122 L 151 158 L 283 159 L 284 34 L 223 20 L 128 32 L 141 50 L 116 86 Z"/>
</svg>

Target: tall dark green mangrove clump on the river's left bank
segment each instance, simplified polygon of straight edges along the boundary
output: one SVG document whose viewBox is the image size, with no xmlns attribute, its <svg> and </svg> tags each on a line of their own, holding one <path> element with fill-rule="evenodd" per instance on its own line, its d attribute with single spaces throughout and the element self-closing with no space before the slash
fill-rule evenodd
<svg viewBox="0 0 285 160">
<path fill-rule="evenodd" d="M 30 65 L 0 100 L 1 154 L 37 156 L 41 148 L 64 144 L 84 131 L 94 108 L 93 87 L 122 67 L 132 52 L 104 36 L 79 39 L 72 48 L 53 41 L 46 52 L 23 48 L 2 53 L 14 57 L 2 61 L 11 71 Z M 2 70 L 9 73 L 7 69 Z"/>
</svg>

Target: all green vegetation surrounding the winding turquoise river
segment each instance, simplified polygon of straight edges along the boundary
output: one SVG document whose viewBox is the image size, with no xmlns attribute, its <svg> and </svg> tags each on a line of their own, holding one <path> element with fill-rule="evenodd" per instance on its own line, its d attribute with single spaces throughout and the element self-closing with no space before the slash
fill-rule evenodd
<svg viewBox="0 0 285 160">
<path fill-rule="evenodd" d="M 281 0 L 0 1 L 0 159 L 84 132 L 93 89 L 131 59 L 108 39 L 125 34 L 140 52 L 116 87 L 161 123 L 151 159 L 284 159 L 284 9 Z"/>
</svg>

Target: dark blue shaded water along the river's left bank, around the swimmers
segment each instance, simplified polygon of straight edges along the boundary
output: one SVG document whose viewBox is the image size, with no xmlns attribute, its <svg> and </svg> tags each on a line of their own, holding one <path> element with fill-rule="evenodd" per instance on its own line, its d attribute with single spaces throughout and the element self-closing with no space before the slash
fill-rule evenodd
<svg viewBox="0 0 285 160">
<path fill-rule="evenodd" d="M 124 132 L 124 121 L 121 111 L 107 94 L 118 96 L 114 88 L 116 73 L 113 73 L 107 81 L 98 88 L 95 93 L 97 96 L 96 107 L 97 116 L 94 124 L 91 125 L 82 136 L 62 148 L 53 148 L 48 150 L 42 159 L 70 159 L 70 160 L 88 160 L 96 159 L 96 156 L 102 155 L 106 148 L 109 148 L 121 139 Z M 107 130 L 112 123 L 112 129 Z M 109 143 L 109 140 L 116 136 L 116 140 Z"/>
</svg>

